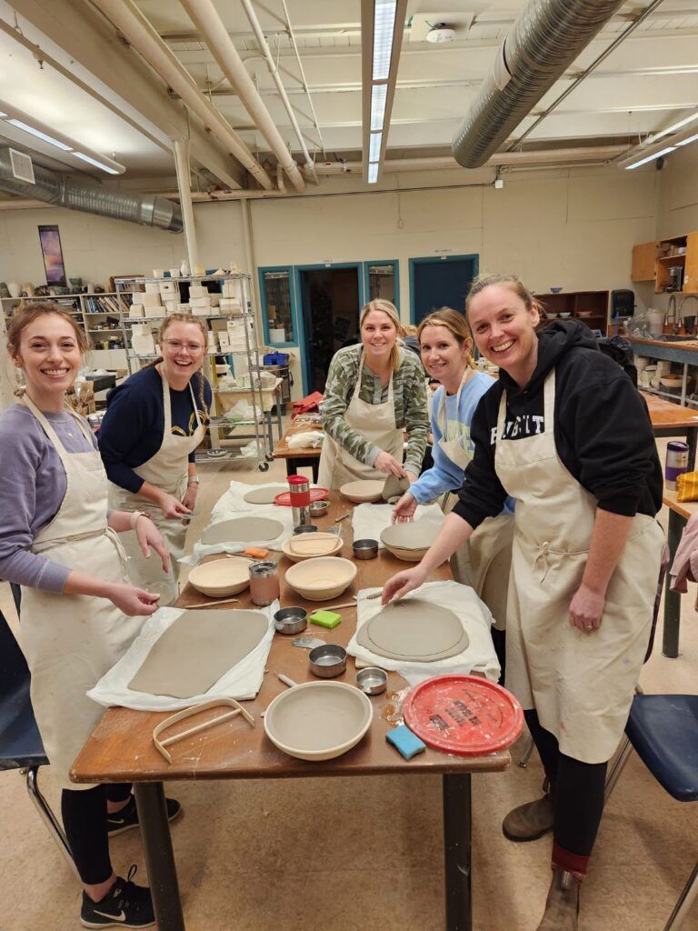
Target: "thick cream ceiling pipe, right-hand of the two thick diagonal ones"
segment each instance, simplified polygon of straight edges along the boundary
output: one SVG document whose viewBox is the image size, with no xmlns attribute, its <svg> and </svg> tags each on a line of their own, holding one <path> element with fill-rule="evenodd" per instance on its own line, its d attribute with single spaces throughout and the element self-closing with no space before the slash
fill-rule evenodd
<svg viewBox="0 0 698 931">
<path fill-rule="evenodd" d="M 189 18 L 203 36 L 222 73 L 235 88 L 240 102 L 254 120 L 266 142 L 269 143 L 278 164 L 289 176 L 291 184 L 302 194 L 305 190 L 302 174 L 281 138 L 281 133 L 275 127 L 269 111 L 264 106 L 259 91 L 255 88 L 242 59 L 237 54 L 233 40 L 223 25 L 216 7 L 213 6 L 211 0 L 181 0 L 181 6 L 189 14 Z"/>
</svg>

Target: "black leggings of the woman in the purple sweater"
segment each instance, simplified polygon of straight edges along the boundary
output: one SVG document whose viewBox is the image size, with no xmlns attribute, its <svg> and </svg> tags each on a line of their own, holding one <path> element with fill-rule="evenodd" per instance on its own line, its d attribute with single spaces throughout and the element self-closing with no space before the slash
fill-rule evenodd
<svg viewBox="0 0 698 931">
<path fill-rule="evenodd" d="M 130 783 L 63 789 L 60 812 L 80 879 L 86 885 L 105 883 L 112 875 L 107 834 L 107 801 L 126 802 Z"/>
</svg>

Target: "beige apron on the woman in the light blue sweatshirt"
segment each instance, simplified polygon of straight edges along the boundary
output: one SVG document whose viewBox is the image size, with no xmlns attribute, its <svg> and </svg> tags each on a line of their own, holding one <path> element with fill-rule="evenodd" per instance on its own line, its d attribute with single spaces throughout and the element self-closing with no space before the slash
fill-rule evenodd
<svg viewBox="0 0 698 931">
<path fill-rule="evenodd" d="M 463 372 L 463 379 L 456 395 L 456 410 L 460 409 L 463 385 L 473 375 L 473 369 Z M 436 423 L 441 430 L 439 449 L 463 470 L 470 462 L 471 454 L 463 449 L 457 439 L 448 437 L 448 418 L 446 414 L 446 388 L 444 388 Z M 447 492 L 441 508 L 444 514 L 450 514 L 458 501 L 458 495 Z M 494 627 L 503 630 L 506 627 L 506 593 L 511 568 L 511 546 L 514 535 L 514 518 L 503 514 L 496 518 L 483 520 L 467 543 L 459 546 L 450 558 L 450 571 L 456 582 L 475 589 L 478 598 L 490 609 Z"/>
</svg>

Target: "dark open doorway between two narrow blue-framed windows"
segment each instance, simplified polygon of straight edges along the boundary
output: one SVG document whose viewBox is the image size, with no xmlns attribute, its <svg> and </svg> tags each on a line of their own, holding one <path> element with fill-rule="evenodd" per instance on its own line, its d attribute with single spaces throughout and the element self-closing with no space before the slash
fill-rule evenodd
<svg viewBox="0 0 698 931">
<path fill-rule="evenodd" d="M 303 324 L 304 393 L 324 391 L 329 363 L 358 342 L 359 265 L 298 269 Z"/>
</svg>

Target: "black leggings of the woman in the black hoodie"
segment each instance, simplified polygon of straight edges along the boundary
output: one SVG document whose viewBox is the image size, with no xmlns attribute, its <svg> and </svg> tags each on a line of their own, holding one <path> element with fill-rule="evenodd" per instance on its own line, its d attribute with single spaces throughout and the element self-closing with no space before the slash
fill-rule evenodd
<svg viewBox="0 0 698 931">
<path fill-rule="evenodd" d="M 557 737 L 546 731 L 535 710 L 524 711 L 533 743 L 555 795 L 556 843 L 588 857 L 603 814 L 608 762 L 580 762 L 560 752 Z"/>
</svg>

